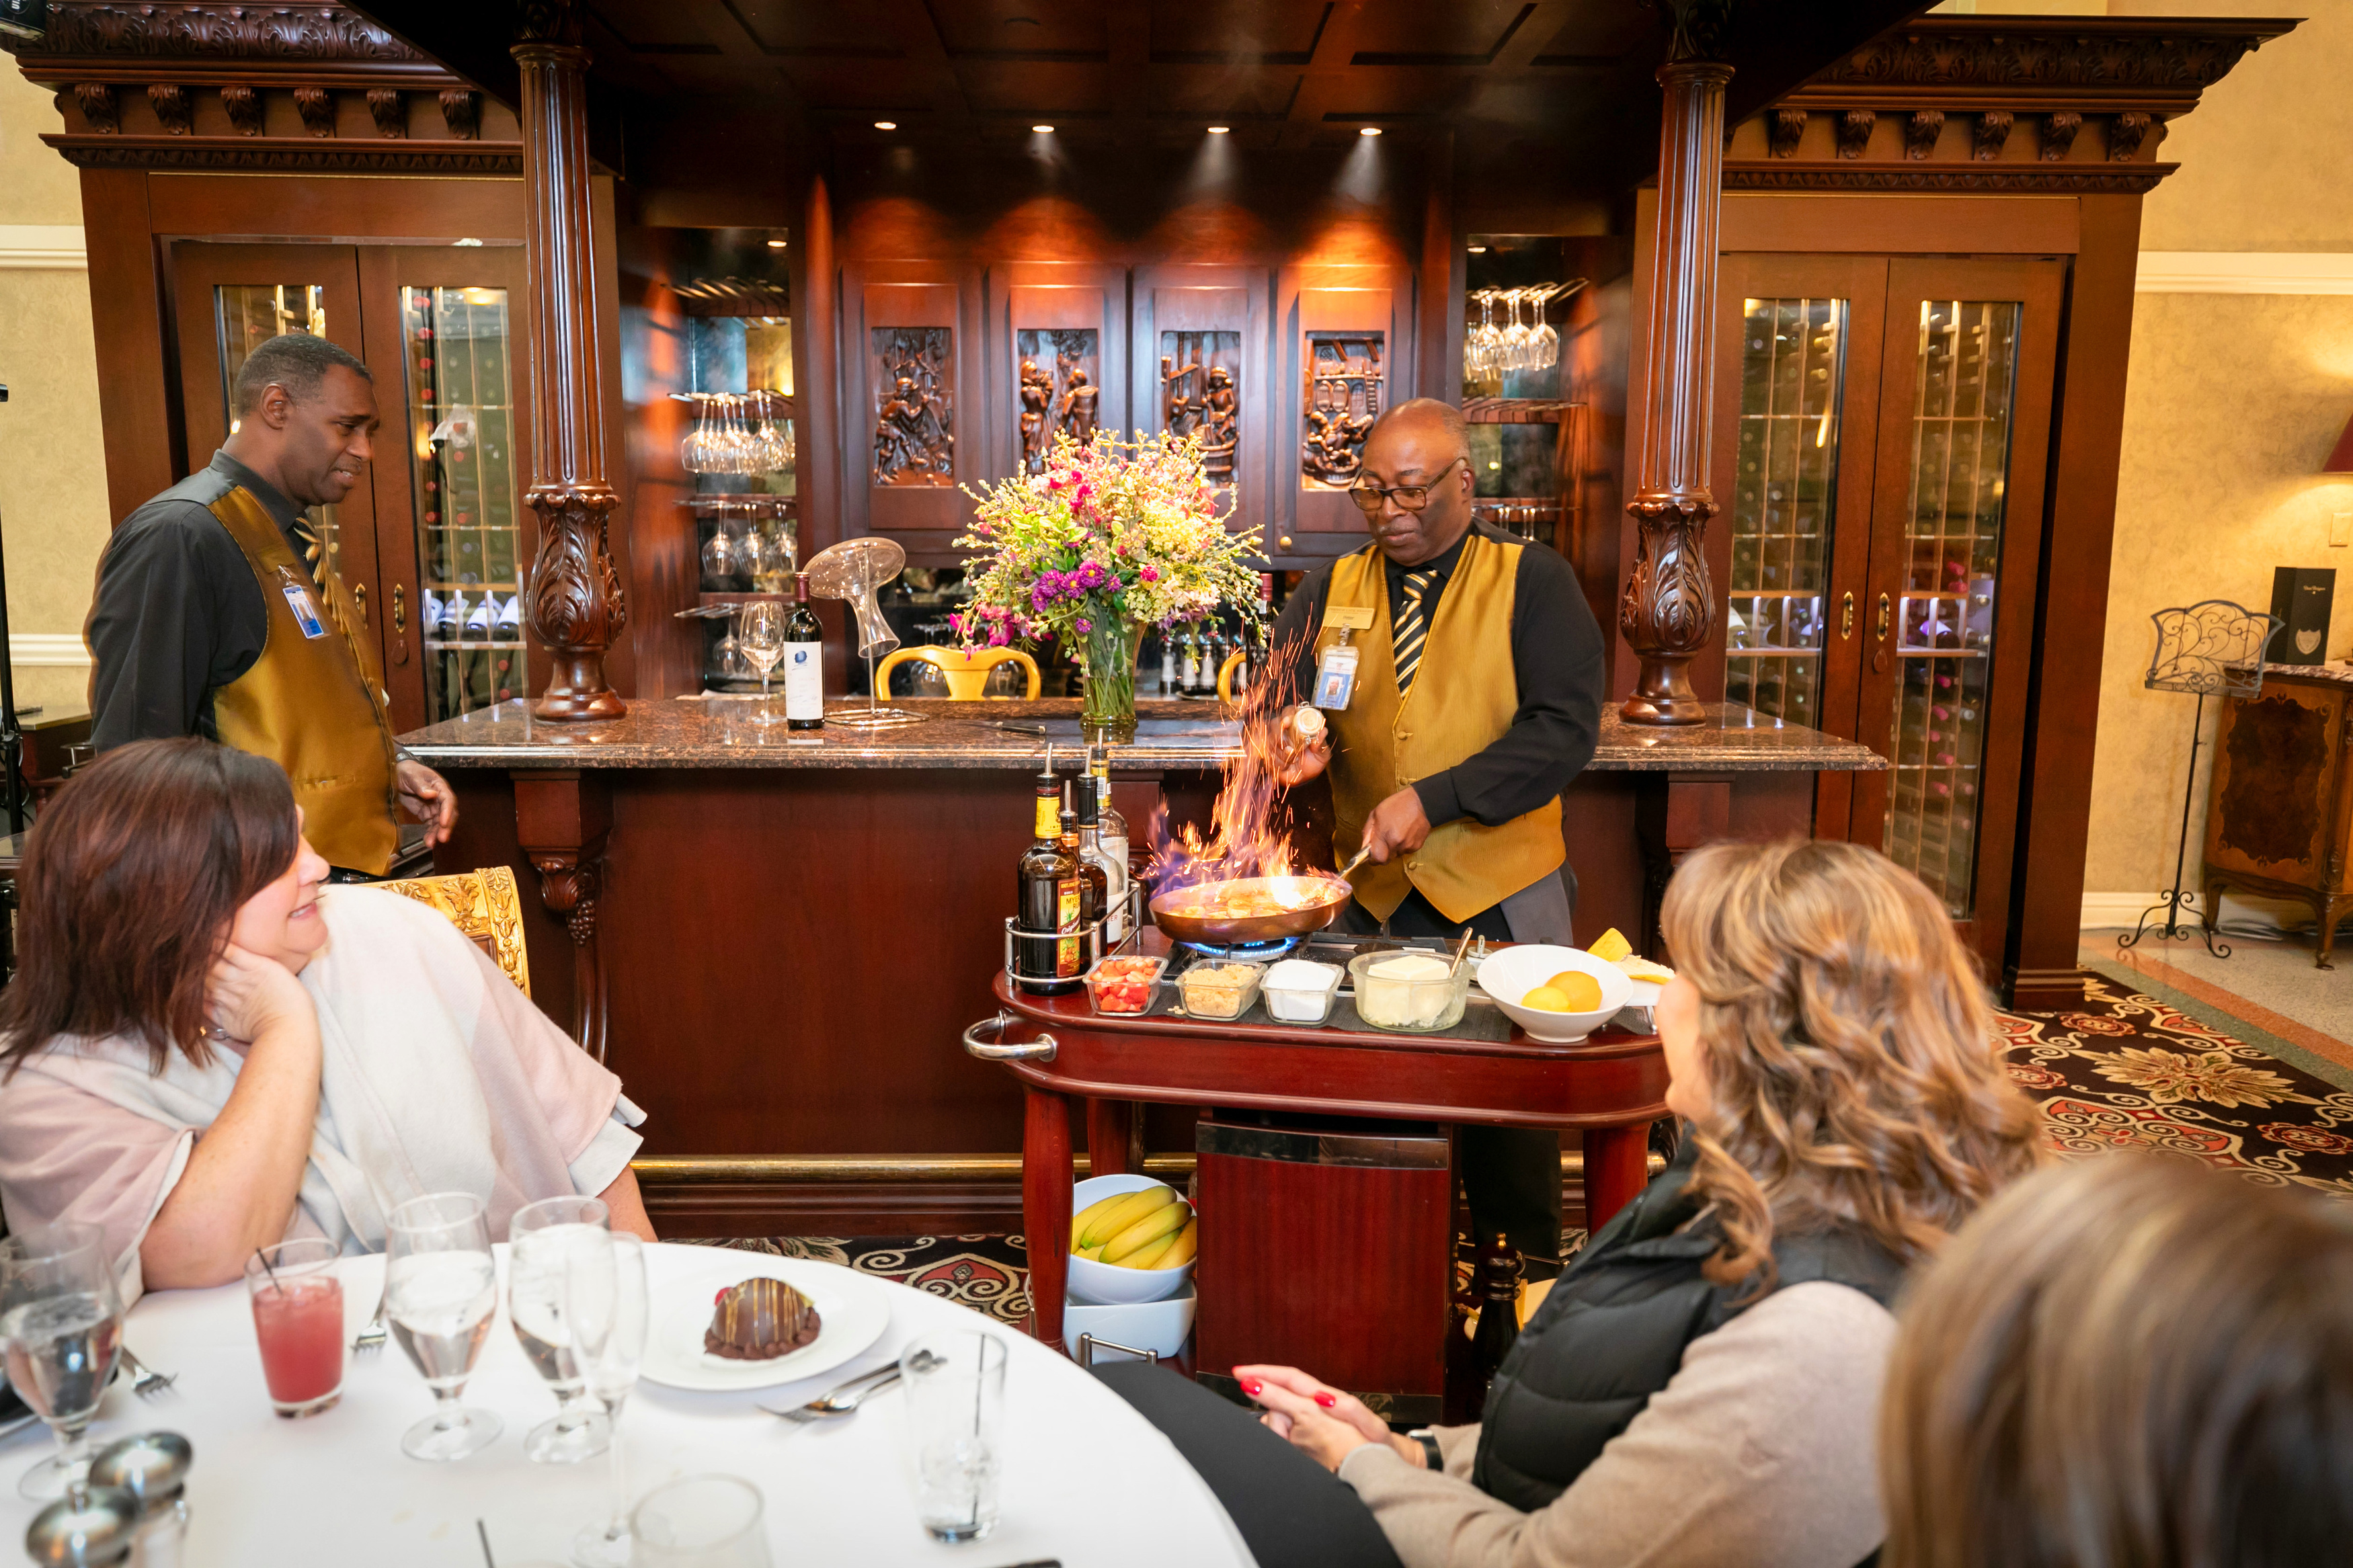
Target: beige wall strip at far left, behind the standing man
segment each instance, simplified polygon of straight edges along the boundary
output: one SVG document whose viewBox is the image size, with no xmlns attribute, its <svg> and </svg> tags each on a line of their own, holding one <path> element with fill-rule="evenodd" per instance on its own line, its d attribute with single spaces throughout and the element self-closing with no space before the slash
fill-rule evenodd
<svg viewBox="0 0 2353 1568">
<path fill-rule="evenodd" d="M 28 658 L 80 635 L 111 522 L 89 280 L 71 261 L 82 181 L 40 141 L 59 129 L 49 94 L 0 61 L 0 534 L 16 703 L 49 712 L 80 708 L 89 672 Z"/>
</svg>

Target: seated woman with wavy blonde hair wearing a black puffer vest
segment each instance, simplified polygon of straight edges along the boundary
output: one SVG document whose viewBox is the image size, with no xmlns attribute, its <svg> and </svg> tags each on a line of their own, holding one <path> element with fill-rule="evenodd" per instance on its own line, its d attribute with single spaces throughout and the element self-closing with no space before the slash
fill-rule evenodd
<svg viewBox="0 0 2353 1568">
<path fill-rule="evenodd" d="M 1715 844 L 1661 924 L 1689 1135 L 1553 1286 L 1478 1427 L 1393 1434 L 1306 1371 L 1238 1366 L 1264 1432 L 1160 1368 L 1099 1371 L 1261 1563 L 1852 1568 L 1880 1547 L 1887 1307 L 2035 1164 L 2033 1105 L 1944 907 L 1875 851 Z"/>
</svg>

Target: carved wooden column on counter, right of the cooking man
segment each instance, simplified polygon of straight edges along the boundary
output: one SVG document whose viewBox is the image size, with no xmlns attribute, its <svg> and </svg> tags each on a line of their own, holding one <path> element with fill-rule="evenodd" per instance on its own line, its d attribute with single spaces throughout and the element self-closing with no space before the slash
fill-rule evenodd
<svg viewBox="0 0 2353 1568">
<path fill-rule="evenodd" d="M 1659 244 L 1649 277 L 1649 381 L 1642 388 L 1642 451 L 1635 494 L 1640 545 L 1619 630 L 1642 661 L 1628 724 L 1699 724 L 1689 663 L 1715 632 L 1715 590 L 1701 536 L 1715 515 L 1708 491 L 1708 414 L 1715 386 L 1715 214 L 1725 174 L 1725 82 L 1732 66 L 1706 59 L 1727 0 L 1675 5 L 1675 40 L 1659 66 Z M 1701 16 L 1704 14 L 1704 16 Z"/>
</svg>

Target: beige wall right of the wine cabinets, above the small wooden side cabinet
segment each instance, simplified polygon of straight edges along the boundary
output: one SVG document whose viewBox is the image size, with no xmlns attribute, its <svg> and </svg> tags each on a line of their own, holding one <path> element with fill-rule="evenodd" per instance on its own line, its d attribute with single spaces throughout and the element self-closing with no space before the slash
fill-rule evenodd
<svg viewBox="0 0 2353 1568">
<path fill-rule="evenodd" d="M 2264 273 L 2280 266 L 2266 256 L 2280 252 L 2304 252 L 2304 263 L 2320 270 L 2332 270 L 2329 259 L 2313 252 L 2346 252 L 2334 270 L 2353 277 L 2353 101 L 2341 87 L 2353 71 L 2353 0 L 2113 0 L 2108 12 L 2308 12 L 2294 33 L 2242 59 L 2193 115 L 2167 127 L 2158 158 L 2181 162 L 2181 172 L 2144 205 L 2144 289 L 2169 261 L 2153 252 L 2233 252 L 2193 268 L 2224 277 L 2209 287 L 2266 287 Z M 2148 893 L 2174 875 L 2193 698 L 2141 686 L 2155 646 L 2148 616 L 2209 597 L 2266 609 L 2273 567 L 2337 567 L 2344 581 L 2329 656 L 2353 654 L 2353 550 L 2329 548 L 2329 515 L 2353 510 L 2353 482 L 2318 473 L 2348 416 L 2353 294 L 2137 296 L 2087 922 L 2113 919 L 2115 900 L 2104 910 L 2101 893 Z M 2207 752 L 2198 762 L 2193 884 Z"/>
</svg>

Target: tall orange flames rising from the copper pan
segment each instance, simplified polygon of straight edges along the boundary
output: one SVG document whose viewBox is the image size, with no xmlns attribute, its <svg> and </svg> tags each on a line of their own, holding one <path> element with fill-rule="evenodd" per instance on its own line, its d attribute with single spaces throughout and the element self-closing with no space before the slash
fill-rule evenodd
<svg viewBox="0 0 2353 1568">
<path fill-rule="evenodd" d="M 1299 701 L 1292 679 L 1299 642 L 1289 637 L 1271 649 L 1266 677 L 1242 698 L 1242 755 L 1224 769 L 1226 783 L 1209 811 L 1209 835 L 1202 837 L 1195 823 L 1169 832 L 1167 804 L 1153 806 L 1153 858 L 1144 879 L 1155 898 L 1209 882 L 1280 877 L 1285 882 L 1271 884 L 1268 893 L 1282 907 L 1304 910 L 1332 900 L 1332 872 L 1306 865 L 1292 851 L 1280 809 L 1282 785 L 1275 783 L 1282 769 L 1278 717 Z"/>
</svg>

